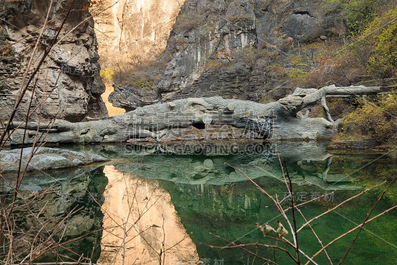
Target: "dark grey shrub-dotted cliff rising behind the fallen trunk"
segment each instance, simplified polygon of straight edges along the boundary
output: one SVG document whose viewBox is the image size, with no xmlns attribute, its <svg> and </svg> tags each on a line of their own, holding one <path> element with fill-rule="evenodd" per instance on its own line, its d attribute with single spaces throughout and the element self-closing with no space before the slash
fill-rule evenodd
<svg viewBox="0 0 397 265">
<path fill-rule="evenodd" d="M 187 0 L 151 89 L 116 82 L 109 100 L 130 110 L 190 96 L 278 99 L 316 66 L 316 45 L 343 30 L 325 1 Z"/>
</svg>

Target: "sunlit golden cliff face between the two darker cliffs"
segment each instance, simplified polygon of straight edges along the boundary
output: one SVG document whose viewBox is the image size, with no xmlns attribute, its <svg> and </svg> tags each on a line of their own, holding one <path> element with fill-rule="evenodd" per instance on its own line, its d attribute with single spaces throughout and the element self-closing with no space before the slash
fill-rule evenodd
<svg viewBox="0 0 397 265">
<path fill-rule="evenodd" d="M 142 60 L 164 51 L 185 0 L 104 0 L 94 13 L 103 65 Z"/>
</svg>

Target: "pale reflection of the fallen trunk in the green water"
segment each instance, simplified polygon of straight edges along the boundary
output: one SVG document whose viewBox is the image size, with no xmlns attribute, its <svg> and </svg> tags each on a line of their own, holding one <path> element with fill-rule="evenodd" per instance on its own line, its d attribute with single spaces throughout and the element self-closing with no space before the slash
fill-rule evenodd
<svg viewBox="0 0 397 265">
<path fill-rule="evenodd" d="M 325 190 L 355 189 L 349 177 L 332 167 L 328 143 L 319 142 L 214 142 L 147 143 L 112 147 L 101 154 L 135 158 L 116 168 L 142 177 L 186 184 L 215 184 L 246 178 L 225 163 L 241 169 L 251 178 L 274 177 L 283 181 L 280 163 L 286 161 L 292 182 L 316 185 Z"/>
</svg>

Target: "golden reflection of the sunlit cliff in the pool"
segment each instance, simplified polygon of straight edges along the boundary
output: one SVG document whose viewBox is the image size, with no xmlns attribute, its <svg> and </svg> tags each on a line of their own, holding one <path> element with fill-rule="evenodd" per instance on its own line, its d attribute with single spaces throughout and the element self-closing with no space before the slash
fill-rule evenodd
<svg viewBox="0 0 397 265">
<path fill-rule="evenodd" d="M 101 264 L 197 264 L 196 246 L 157 180 L 105 166 Z M 161 257 L 161 260 L 160 260 Z"/>
</svg>

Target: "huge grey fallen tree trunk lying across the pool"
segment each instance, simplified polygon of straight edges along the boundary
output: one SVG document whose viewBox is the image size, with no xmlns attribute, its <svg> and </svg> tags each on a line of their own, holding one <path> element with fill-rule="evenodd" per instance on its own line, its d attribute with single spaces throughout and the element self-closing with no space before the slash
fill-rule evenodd
<svg viewBox="0 0 397 265">
<path fill-rule="evenodd" d="M 326 104 L 327 95 L 374 94 L 381 87 L 296 88 L 294 93 L 278 101 L 261 104 L 248 100 L 222 97 L 185 98 L 137 108 L 112 118 L 71 123 L 14 123 L 10 128 L 11 144 L 35 141 L 37 133 L 45 134 L 48 143 L 114 143 L 129 139 L 172 139 L 175 132 L 189 126 L 202 130 L 206 126 L 227 125 L 252 132 L 262 139 L 331 138 L 339 120 L 333 121 Z M 325 118 L 307 118 L 300 111 L 321 100 Z M 227 137 L 223 137 L 227 138 Z"/>
</svg>

